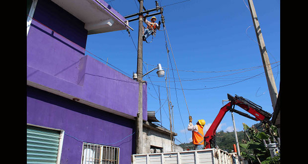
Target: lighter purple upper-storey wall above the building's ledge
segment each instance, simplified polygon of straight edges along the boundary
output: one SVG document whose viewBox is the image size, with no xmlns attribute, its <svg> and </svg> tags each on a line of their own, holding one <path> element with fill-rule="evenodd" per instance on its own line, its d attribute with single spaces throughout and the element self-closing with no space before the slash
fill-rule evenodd
<svg viewBox="0 0 308 164">
<path fill-rule="evenodd" d="M 53 14 L 53 10 L 57 14 Z M 87 32 L 84 23 L 73 17 L 50 0 L 38 0 L 33 18 L 47 27 L 35 20 L 31 23 L 27 36 L 27 80 L 136 117 L 138 83 L 84 56 L 81 47 L 85 46 Z M 77 25 L 65 25 L 70 23 Z M 66 27 L 75 32 L 66 33 Z M 81 47 L 58 32 L 73 38 Z M 143 118 L 147 120 L 147 84 L 143 88 Z"/>
</svg>

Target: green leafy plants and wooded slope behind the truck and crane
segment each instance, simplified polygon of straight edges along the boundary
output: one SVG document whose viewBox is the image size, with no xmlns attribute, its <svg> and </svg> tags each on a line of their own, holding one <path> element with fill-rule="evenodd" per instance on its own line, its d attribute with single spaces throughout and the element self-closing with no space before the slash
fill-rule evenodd
<svg viewBox="0 0 308 164">
<path fill-rule="evenodd" d="M 270 152 L 265 148 L 263 139 L 270 139 L 271 143 L 276 142 L 278 137 L 277 128 L 273 125 L 257 123 L 250 127 L 243 123 L 243 131 L 236 132 L 239 143 L 239 150 L 242 157 L 249 160 L 249 164 L 280 164 L 280 153 L 271 158 Z M 246 132 L 246 134 L 245 134 Z M 228 153 L 233 152 L 235 144 L 234 132 L 216 132 L 216 144 Z M 184 143 L 179 146 L 185 150 L 192 150 L 193 143 Z"/>
</svg>

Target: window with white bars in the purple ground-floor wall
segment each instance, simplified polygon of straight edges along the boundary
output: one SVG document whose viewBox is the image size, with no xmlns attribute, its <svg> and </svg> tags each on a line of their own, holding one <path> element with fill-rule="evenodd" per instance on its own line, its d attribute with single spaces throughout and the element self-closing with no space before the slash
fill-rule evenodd
<svg viewBox="0 0 308 164">
<path fill-rule="evenodd" d="M 120 148 L 83 143 L 81 164 L 119 164 Z"/>
</svg>

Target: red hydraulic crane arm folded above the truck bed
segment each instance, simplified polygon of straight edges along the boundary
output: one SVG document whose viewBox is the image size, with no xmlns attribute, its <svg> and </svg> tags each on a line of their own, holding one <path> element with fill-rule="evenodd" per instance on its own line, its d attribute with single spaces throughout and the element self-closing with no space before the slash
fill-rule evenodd
<svg viewBox="0 0 308 164">
<path fill-rule="evenodd" d="M 261 121 L 262 123 L 270 123 L 270 118 L 272 117 L 271 113 L 268 113 L 264 110 L 262 110 L 262 107 L 253 103 L 252 101 L 240 97 L 235 94 L 235 97 L 231 96 L 229 93 L 228 99 L 229 103 L 227 103 L 225 106 L 223 106 L 218 115 L 216 116 L 214 122 L 212 123 L 211 127 L 209 130 L 206 132 L 204 135 L 204 145 L 206 149 L 211 148 L 211 144 L 215 143 L 215 137 L 216 137 L 216 130 L 222 119 L 224 118 L 225 114 L 230 111 L 230 112 L 235 112 L 239 115 L 242 115 L 244 117 L 250 118 L 255 121 Z M 237 105 L 241 108 L 243 108 L 245 111 L 249 112 L 255 117 L 251 117 L 250 115 L 240 112 L 238 110 L 234 109 L 234 106 Z M 233 108 L 232 108 L 233 106 Z"/>
</svg>

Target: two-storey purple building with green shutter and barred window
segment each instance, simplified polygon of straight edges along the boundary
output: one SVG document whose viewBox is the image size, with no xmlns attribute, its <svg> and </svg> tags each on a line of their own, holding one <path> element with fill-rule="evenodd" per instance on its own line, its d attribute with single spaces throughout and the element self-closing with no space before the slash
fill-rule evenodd
<svg viewBox="0 0 308 164">
<path fill-rule="evenodd" d="M 131 163 L 138 82 L 84 55 L 125 21 L 103 0 L 27 0 L 27 163 Z"/>
</svg>

